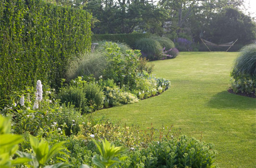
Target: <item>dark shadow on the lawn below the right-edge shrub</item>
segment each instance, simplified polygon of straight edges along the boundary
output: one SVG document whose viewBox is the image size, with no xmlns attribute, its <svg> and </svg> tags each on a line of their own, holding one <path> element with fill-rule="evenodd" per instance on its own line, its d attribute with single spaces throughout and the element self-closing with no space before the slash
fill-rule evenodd
<svg viewBox="0 0 256 168">
<path fill-rule="evenodd" d="M 256 109 L 256 98 L 231 94 L 228 91 L 214 95 L 207 105 L 211 108 Z"/>
</svg>

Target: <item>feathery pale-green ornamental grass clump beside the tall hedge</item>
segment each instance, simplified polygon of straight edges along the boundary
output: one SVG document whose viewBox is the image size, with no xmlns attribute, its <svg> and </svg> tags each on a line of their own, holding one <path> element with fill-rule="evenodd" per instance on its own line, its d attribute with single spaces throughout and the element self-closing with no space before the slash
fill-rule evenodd
<svg viewBox="0 0 256 168">
<path fill-rule="evenodd" d="M 98 78 L 106 68 L 106 57 L 103 52 L 85 52 L 69 61 L 66 76 L 68 80 L 75 79 L 77 76 L 90 76 Z"/>
</svg>

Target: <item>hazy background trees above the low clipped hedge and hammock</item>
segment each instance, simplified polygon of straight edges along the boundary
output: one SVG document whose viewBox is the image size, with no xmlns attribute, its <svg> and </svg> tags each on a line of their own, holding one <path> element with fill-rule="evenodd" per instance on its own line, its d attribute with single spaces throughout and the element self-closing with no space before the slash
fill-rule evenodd
<svg viewBox="0 0 256 168">
<path fill-rule="evenodd" d="M 149 32 L 216 43 L 256 39 L 256 24 L 241 12 L 244 0 L 47 0 L 87 10 L 94 34 Z M 166 24 L 168 21 L 169 24 Z M 164 26 L 168 27 L 168 30 Z M 166 31 L 167 30 L 167 31 Z"/>
</svg>

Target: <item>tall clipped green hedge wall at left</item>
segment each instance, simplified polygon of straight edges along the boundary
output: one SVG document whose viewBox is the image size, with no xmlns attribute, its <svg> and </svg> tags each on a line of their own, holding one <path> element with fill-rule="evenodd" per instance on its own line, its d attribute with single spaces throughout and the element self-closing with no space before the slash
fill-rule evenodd
<svg viewBox="0 0 256 168">
<path fill-rule="evenodd" d="M 60 84 L 68 57 L 90 50 L 90 18 L 42 0 L 0 0 L 0 99 L 38 79 Z"/>
</svg>

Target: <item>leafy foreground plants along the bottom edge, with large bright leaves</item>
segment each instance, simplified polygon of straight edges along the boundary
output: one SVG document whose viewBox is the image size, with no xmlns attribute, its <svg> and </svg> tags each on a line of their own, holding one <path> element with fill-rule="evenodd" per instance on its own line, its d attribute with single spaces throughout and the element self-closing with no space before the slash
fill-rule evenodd
<svg viewBox="0 0 256 168">
<path fill-rule="evenodd" d="M 78 136 L 65 136 L 61 128 L 52 127 L 51 131 L 43 131 L 39 140 L 29 133 L 23 136 L 11 133 L 10 118 L 0 116 L 0 136 L 9 140 L 0 143 L 1 167 L 85 167 L 83 164 L 93 168 L 95 165 L 96 168 L 107 168 L 107 165 L 114 168 L 216 167 L 213 164 L 217 152 L 213 150 L 212 144 L 186 136 L 176 138 L 170 132 L 172 127 L 166 131 L 160 129 L 160 136 L 157 137 L 153 127 L 143 131 L 138 127 L 121 127 L 109 121 L 83 122 L 80 126 Z M 12 125 L 12 128 L 15 127 L 18 126 Z M 18 157 L 11 159 L 14 154 Z"/>
</svg>

